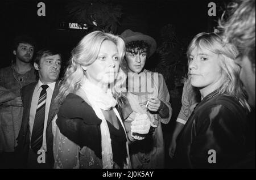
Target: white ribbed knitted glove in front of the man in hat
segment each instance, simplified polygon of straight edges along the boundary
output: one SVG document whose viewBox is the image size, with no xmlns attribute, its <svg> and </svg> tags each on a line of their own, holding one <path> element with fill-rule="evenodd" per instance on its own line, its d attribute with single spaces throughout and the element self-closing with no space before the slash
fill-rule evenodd
<svg viewBox="0 0 256 180">
<path fill-rule="evenodd" d="M 147 114 L 137 114 L 131 122 L 131 132 L 138 134 L 148 134 L 150 130 L 150 118 Z M 132 133 L 133 134 L 133 133 Z"/>
</svg>

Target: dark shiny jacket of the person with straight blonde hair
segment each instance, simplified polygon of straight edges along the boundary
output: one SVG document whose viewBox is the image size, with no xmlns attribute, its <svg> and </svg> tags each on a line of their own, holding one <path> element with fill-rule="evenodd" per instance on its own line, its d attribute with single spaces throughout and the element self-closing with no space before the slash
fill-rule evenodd
<svg viewBox="0 0 256 180">
<path fill-rule="evenodd" d="M 177 142 L 177 168 L 228 168 L 246 153 L 246 110 L 236 98 L 210 93 Z"/>
</svg>

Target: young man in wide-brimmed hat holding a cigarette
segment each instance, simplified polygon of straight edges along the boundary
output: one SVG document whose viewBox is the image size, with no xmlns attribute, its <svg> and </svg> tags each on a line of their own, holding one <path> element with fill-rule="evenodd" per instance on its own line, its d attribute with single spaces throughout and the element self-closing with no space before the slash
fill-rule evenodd
<svg viewBox="0 0 256 180">
<path fill-rule="evenodd" d="M 125 121 L 126 130 L 136 115 L 147 114 L 151 128 L 146 136 L 131 133 L 130 157 L 133 168 L 164 168 L 164 140 L 161 122 L 167 124 L 172 115 L 170 96 L 163 75 L 144 69 L 146 59 L 156 50 L 154 38 L 124 31 L 126 43 L 123 65 L 127 70 L 127 99 L 133 113 Z M 134 118 L 135 117 L 135 118 Z"/>
</svg>

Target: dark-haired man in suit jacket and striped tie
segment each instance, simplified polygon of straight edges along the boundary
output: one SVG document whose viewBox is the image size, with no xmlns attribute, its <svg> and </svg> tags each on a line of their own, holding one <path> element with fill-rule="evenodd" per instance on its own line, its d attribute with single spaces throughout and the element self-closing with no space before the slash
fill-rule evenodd
<svg viewBox="0 0 256 180">
<path fill-rule="evenodd" d="M 57 113 L 54 100 L 59 92 L 61 55 L 51 49 L 39 50 L 34 67 L 38 82 L 21 90 L 24 110 L 17 155 L 20 168 L 52 168 L 52 119 Z"/>
</svg>

